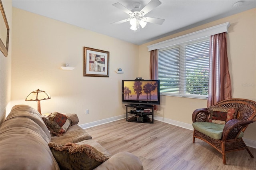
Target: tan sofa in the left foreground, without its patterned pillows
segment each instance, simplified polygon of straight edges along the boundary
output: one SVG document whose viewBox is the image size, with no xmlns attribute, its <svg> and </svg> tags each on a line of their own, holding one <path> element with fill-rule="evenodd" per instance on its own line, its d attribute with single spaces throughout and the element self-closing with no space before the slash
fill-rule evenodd
<svg viewBox="0 0 256 170">
<path fill-rule="evenodd" d="M 89 144 L 110 157 L 97 170 L 143 170 L 137 156 L 120 152 L 113 156 L 77 125 L 76 114 L 66 114 L 74 125 L 63 136 L 52 136 L 41 115 L 28 105 L 16 105 L 0 126 L 0 169 L 58 170 L 48 143 Z"/>
</svg>

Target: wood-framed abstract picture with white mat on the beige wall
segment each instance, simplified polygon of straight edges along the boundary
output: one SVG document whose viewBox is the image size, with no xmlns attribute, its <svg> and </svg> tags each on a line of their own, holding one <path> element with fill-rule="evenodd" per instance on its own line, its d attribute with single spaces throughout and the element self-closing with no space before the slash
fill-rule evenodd
<svg viewBox="0 0 256 170">
<path fill-rule="evenodd" d="M 84 47 L 84 76 L 109 77 L 109 51 Z"/>
</svg>

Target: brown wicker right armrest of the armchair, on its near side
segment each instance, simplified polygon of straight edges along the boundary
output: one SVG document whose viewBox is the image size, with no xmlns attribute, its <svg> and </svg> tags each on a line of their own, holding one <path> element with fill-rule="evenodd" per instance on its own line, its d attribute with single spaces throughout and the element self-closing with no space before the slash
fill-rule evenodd
<svg viewBox="0 0 256 170">
<path fill-rule="evenodd" d="M 222 132 L 222 140 L 234 139 L 239 136 L 239 134 L 253 121 L 242 121 L 238 119 L 232 119 L 228 121 Z"/>
</svg>

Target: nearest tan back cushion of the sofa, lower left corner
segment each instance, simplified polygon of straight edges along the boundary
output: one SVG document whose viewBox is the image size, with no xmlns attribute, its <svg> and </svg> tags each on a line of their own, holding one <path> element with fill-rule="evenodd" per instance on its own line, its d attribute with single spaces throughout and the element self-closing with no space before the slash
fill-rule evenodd
<svg viewBox="0 0 256 170">
<path fill-rule="evenodd" d="M 48 146 L 48 136 L 28 117 L 5 120 L 0 127 L 0 141 L 1 170 L 59 169 Z"/>
</svg>

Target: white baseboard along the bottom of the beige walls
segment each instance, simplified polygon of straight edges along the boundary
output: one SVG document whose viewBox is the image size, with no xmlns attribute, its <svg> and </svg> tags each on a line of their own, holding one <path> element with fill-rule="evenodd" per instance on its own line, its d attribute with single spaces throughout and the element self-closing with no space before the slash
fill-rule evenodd
<svg viewBox="0 0 256 170">
<path fill-rule="evenodd" d="M 110 117 L 108 119 L 102 119 L 100 121 L 86 123 L 86 124 L 79 125 L 79 126 L 82 127 L 83 129 L 85 129 L 85 128 L 90 128 L 90 127 L 95 127 L 95 126 L 98 126 L 98 125 L 102 125 L 102 124 L 105 124 L 105 123 L 110 123 L 110 122 L 113 122 L 113 121 L 118 121 L 120 119 L 125 119 L 125 118 L 126 118 L 126 114 L 116 116 L 116 117 Z M 164 122 L 164 123 L 168 123 L 168 124 L 171 124 L 171 125 L 175 125 L 175 126 L 178 126 L 178 127 L 186 128 L 186 129 L 189 129 L 189 130 L 193 130 L 192 125 L 190 125 L 188 123 L 174 121 L 174 120 L 171 120 L 171 119 L 167 119 L 167 118 L 164 118 L 164 117 L 158 117 L 158 116 L 154 116 L 154 120 L 161 121 L 161 122 Z M 246 139 L 246 138 L 243 138 L 243 140 L 244 140 L 244 143 L 247 146 L 250 146 L 252 148 L 256 148 L 256 141 L 249 140 L 249 139 Z"/>
</svg>

